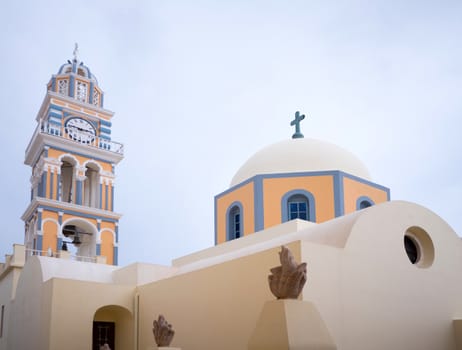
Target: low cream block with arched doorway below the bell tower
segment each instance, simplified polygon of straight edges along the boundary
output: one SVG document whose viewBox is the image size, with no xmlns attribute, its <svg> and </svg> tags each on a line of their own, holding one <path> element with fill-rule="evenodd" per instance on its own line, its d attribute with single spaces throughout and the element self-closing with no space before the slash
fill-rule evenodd
<svg viewBox="0 0 462 350">
<path fill-rule="evenodd" d="M 67 262 L 56 258 L 29 258 L 12 303 L 5 349 L 91 348 L 95 315 L 108 306 L 112 309 L 108 308 L 103 315 L 112 312 L 111 321 L 118 323 L 118 348 L 132 348 L 136 286 L 94 282 L 94 275 L 88 276 L 90 281 L 83 281 L 81 271 L 77 272 L 78 279 L 53 277 L 52 271 L 57 275 L 62 275 L 63 271 L 53 269 L 52 265 L 61 265 L 63 261 Z M 91 265 L 96 270 L 101 268 L 99 264 Z M 46 271 L 45 281 L 42 268 Z M 107 266 L 104 265 L 103 269 L 106 271 Z M 68 274 L 72 275 L 72 271 Z"/>
</svg>

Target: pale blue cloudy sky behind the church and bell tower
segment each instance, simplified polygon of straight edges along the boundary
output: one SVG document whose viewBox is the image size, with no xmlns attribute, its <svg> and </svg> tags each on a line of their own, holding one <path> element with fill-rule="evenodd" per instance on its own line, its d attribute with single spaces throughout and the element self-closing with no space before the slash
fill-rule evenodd
<svg viewBox="0 0 462 350">
<path fill-rule="evenodd" d="M 212 246 L 214 196 L 297 110 L 462 235 L 461 18 L 460 1 L 4 2 L 0 255 L 23 243 L 24 151 L 75 42 L 125 145 L 120 265 Z"/>
</svg>

